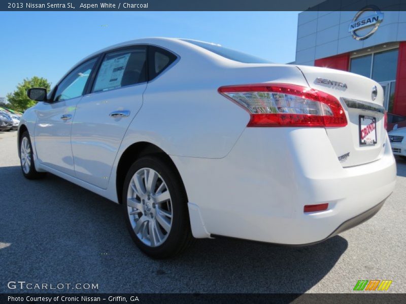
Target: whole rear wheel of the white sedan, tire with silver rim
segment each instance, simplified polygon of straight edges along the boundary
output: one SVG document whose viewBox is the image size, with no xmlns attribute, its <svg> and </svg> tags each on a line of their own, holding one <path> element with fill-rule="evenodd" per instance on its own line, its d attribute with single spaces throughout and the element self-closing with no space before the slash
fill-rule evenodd
<svg viewBox="0 0 406 304">
<path fill-rule="evenodd" d="M 186 192 L 179 174 L 167 162 L 156 156 L 134 162 L 127 172 L 122 198 L 128 231 L 145 254 L 169 258 L 193 243 Z"/>
</svg>

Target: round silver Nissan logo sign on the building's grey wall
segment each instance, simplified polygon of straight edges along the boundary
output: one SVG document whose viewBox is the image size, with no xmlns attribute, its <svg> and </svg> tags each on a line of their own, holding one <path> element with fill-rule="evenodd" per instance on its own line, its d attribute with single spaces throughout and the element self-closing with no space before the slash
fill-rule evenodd
<svg viewBox="0 0 406 304">
<path fill-rule="evenodd" d="M 364 40 L 377 31 L 383 20 L 384 14 L 376 6 L 366 6 L 355 15 L 348 31 L 355 40 Z"/>
</svg>

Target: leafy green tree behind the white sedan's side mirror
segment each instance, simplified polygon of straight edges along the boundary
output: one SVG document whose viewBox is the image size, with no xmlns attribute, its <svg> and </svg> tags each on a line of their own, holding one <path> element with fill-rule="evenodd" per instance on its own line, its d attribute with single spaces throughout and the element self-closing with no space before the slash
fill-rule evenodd
<svg viewBox="0 0 406 304">
<path fill-rule="evenodd" d="M 37 101 L 28 98 L 28 89 L 46 88 L 47 91 L 49 91 L 50 87 L 51 84 L 45 78 L 37 76 L 34 76 L 31 79 L 26 78 L 22 83 L 17 85 L 17 89 L 13 93 L 7 94 L 7 100 L 13 109 L 17 111 L 24 111 L 37 103 Z"/>
</svg>

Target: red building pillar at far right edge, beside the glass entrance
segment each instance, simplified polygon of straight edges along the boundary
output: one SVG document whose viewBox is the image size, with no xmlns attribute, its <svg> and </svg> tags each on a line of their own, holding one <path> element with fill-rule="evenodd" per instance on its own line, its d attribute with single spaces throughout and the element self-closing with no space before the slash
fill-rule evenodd
<svg viewBox="0 0 406 304">
<path fill-rule="evenodd" d="M 399 43 L 393 113 L 406 116 L 406 42 Z"/>
</svg>

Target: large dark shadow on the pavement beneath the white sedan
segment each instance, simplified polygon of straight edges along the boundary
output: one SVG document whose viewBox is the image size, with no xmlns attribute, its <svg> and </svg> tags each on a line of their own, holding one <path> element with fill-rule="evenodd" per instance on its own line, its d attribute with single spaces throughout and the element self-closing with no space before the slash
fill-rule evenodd
<svg viewBox="0 0 406 304">
<path fill-rule="evenodd" d="M 348 247 L 340 236 L 309 247 L 206 239 L 177 258 L 152 260 L 133 244 L 119 205 L 51 174 L 26 180 L 20 170 L 0 167 L 0 292 L 21 292 L 7 282 L 24 280 L 97 283 L 104 293 L 303 293 Z"/>
</svg>

